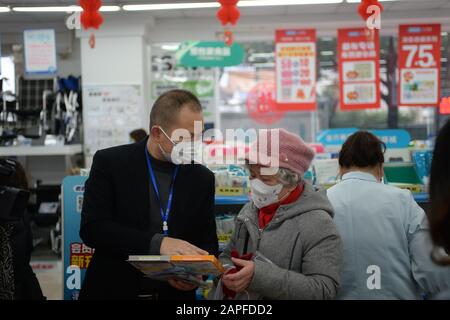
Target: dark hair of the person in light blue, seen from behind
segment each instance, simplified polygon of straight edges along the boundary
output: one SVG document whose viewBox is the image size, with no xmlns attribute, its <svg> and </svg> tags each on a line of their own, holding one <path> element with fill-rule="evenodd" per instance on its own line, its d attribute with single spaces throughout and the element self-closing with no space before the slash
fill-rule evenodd
<svg viewBox="0 0 450 320">
<path fill-rule="evenodd" d="M 358 131 L 342 145 L 339 165 L 342 168 L 369 168 L 384 163 L 386 145 L 374 134 Z"/>
</svg>

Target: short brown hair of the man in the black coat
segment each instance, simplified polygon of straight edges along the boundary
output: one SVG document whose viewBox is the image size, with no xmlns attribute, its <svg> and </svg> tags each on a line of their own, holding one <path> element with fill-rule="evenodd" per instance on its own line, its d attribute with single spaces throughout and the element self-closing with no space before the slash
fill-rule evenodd
<svg viewBox="0 0 450 320">
<path fill-rule="evenodd" d="M 202 112 L 198 98 L 187 90 L 170 90 L 156 99 L 150 112 L 150 129 L 154 125 L 167 127 L 177 121 L 177 116 L 183 107 L 189 107 L 194 112 Z"/>
</svg>

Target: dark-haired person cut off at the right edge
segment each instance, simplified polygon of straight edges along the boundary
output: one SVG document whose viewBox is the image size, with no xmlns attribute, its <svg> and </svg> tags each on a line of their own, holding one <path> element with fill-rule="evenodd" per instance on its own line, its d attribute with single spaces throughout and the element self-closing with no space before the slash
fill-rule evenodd
<svg viewBox="0 0 450 320">
<path fill-rule="evenodd" d="M 435 245 L 433 261 L 450 266 L 450 120 L 436 139 L 431 164 L 430 200 L 428 220 Z M 439 248 L 445 252 L 439 252 Z M 450 291 L 442 293 L 439 298 L 450 299 Z"/>
</svg>

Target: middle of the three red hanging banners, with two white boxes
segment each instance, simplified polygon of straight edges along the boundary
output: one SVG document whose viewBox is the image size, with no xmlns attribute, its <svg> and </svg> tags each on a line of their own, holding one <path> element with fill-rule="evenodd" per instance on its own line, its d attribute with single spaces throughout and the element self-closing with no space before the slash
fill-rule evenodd
<svg viewBox="0 0 450 320">
<path fill-rule="evenodd" d="M 338 30 L 341 110 L 380 107 L 380 39 L 378 30 Z"/>
</svg>

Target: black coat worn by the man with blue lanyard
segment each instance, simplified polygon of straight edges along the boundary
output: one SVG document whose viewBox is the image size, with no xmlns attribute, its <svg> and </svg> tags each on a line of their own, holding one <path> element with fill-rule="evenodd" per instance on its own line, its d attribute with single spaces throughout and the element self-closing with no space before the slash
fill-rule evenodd
<svg viewBox="0 0 450 320">
<path fill-rule="evenodd" d="M 167 283 L 151 281 L 125 260 L 150 253 L 150 178 L 147 139 L 98 151 L 85 184 L 80 236 L 95 248 L 80 299 L 136 299 L 151 287 L 160 299 L 193 299 Z M 174 184 L 169 236 L 217 255 L 214 174 L 201 165 L 180 167 Z M 153 228 L 154 229 L 154 228 Z"/>
</svg>

